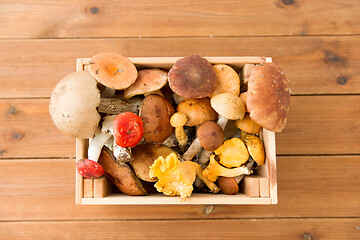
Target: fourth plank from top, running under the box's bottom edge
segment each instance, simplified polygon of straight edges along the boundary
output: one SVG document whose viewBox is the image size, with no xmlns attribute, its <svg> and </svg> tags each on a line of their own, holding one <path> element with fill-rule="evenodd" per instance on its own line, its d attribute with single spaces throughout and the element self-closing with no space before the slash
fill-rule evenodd
<svg viewBox="0 0 360 240">
<path fill-rule="evenodd" d="M 207 207 L 75 205 L 75 160 L 1 160 L 0 220 L 360 217 L 359 161 L 278 157 L 278 205 Z"/>
</svg>

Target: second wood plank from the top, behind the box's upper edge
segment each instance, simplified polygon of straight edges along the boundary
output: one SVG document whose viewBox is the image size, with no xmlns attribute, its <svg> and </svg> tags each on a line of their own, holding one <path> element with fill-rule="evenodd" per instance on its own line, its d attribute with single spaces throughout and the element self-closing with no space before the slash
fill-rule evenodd
<svg viewBox="0 0 360 240">
<path fill-rule="evenodd" d="M 290 79 L 292 94 L 360 93 L 360 36 L 67 39 L 2 40 L 0 98 L 49 97 L 75 71 L 77 57 L 103 51 L 128 57 L 271 56 Z"/>
</svg>

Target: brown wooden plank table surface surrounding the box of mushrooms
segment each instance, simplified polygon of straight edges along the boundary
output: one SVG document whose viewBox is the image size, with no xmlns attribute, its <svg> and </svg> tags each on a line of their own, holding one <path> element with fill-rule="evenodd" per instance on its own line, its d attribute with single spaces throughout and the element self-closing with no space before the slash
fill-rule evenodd
<svg viewBox="0 0 360 240">
<path fill-rule="evenodd" d="M 0 3 L 1 239 L 360 239 L 359 0 Z M 77 57 L 271 56 L 290 79 L 279 204 L 77 206 L 48 114 Z"/>
</svg>

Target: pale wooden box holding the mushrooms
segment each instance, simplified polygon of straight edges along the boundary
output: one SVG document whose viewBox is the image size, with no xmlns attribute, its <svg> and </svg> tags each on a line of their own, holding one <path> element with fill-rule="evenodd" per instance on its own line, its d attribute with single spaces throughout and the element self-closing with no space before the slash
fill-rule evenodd
<svg viewBox="0 0 360 240">
<path fill-rule="evenodd" d="M 137 68 L 162 68 L 169 70 L 178 57 L 129 58 Z M 212 64 L 224 63 L 240 72 L 245 64 L 271 62 L 269 57 L 206 57 Z M 77 71 L 86 69 L 89 58 L 77 59 Z M 179 197 L 168 197 L 162 193 L 147 196 L 127 196 L 111 193 L 110 183 L 105 177 L 84 179 L 76 172 L 76 204 L 95 205 L 159 205 L 159 204 L 277 204 L 275 133 L 263 129 L 260 132 L 266 151 L 266 160 L 254 175 L 244 178 L 240 193 L 225 195 L 221 192 L 193 193 L 185 202 Z M 76 161 L 87 157 L 88 139 L 76 139 Z"/>
</svg>

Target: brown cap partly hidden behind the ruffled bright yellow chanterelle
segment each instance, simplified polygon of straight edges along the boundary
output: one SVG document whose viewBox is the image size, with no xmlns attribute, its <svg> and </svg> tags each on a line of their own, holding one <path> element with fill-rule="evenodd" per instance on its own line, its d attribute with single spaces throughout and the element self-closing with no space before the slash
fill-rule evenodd
<svg viewBox="0 0 360 240">
<path fill-rule="evenodd" d="M 171 148 L 164 145 L 156 147 L 152 143 L 139 144 L 132 148 L 133 160 L 130 162 L 134 169 L 136 176 L 147 182 L 156 182 L 156 177 L 150 177 L 150 166 L 158 157 L 166 158 L 169 154 L 174 152 Z"/>
</svg>

